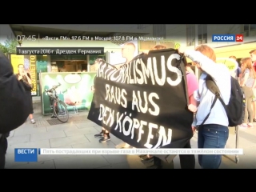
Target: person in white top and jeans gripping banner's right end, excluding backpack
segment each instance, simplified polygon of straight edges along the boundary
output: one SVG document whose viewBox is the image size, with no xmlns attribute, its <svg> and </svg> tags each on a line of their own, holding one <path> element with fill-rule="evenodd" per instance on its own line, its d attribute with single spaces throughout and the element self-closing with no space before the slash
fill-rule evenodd
<svg viewBox="0 0 256 192">
<path fill-rule="evenodd" d="M 200 45 L 195 50 L 179 50 L 190 58 L 194 65 L 202 70 L 199 78 L 199 89 L 194 91 L 194 98 L 198 100 L 198 112 L 194 118 L 194 125 L 198 126 L 198 148 L 225 148 L 229 138 L 229 121 L 222 103 L 217 100 L 210 112 L 210 106 L 215 95 L 206 87 L 206 76 L 209 74 L 220 90 L 223 101 L 228 104 L 231 92 L 231 76 L 228 68 L 216 63 L 214 50 L 209 46 Z M 206 115 L 209 118 L 202 125 Z M 222 162 L 222 155 L 200 154 L 198 162 L 202 169 L 218 169 Z"/>
</svg>

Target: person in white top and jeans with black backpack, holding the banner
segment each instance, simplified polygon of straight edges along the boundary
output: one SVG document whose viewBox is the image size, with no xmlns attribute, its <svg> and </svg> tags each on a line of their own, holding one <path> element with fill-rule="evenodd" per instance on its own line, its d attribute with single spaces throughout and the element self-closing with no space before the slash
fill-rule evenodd
<svg viewBox="0 0 256 192">
<path fill-rule="evenodd" d="M 195 50 L 181 47 L 179 51 L 202 70 L 199 88 L 194 92 L 194 98 L 199 102 L 194 121 L 198 126 L 198 148 L 225 148 L 229 138 L 228 126 L 242 122 L 242 107 L 239 107 L 242 106 L 242 91 L 238 81 L 231 78 L 225 65 L 216 63 L 216 55 L 210 46 L 200 45 Z M 236 99 L 239 102 L 233 98 L 234 93 L 238 93 Z M 230 111 L 234 106 L 239 109 Z M 202 169 L 218 169 L 222 155 L 199 154 L 198 162 Z"/>
</svg>

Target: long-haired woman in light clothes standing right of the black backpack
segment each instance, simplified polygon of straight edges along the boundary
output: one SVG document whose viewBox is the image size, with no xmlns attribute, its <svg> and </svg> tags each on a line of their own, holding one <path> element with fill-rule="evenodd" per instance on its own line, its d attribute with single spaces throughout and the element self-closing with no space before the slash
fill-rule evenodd
<svg viewBox="0 0 256 192">
<path fill-rule="evenodd" d="M 240 86 L 246 96 L 246 111 L 242 127 L 253 127 L 254 111 L 251 103 L 254 97 L 253 87 L 256 86 L 256 72 L 252 66 L 251 58 L 242 58 L 242 76 L 240 78 Z M 249 119 L 249 122 L 248 122 Z"/>
</svg>

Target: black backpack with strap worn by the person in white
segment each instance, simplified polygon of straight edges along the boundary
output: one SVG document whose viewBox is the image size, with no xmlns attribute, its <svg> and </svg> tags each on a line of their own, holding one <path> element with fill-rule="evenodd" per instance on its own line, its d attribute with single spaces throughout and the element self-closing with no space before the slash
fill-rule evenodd
<svg viewBox="0 0 256 192">
<path fill-rule="evenodd" d="M 206 77 L 206 87 L 213 94 L 215 94 L 214 102 L 210 106 L 210 111 L 213 109 L 218 99 L 222 103 L 222 106 L 224 107 L 224 109 L 226 110 L 226 116 L 229 119 L 229 126 L 241 125 L 243 122 L 244 113 L 246 110 L 246 99 L 245 99 L 245 94 L 243 93 L 238 81 L 235 78 L 231 77 L 231 93 L 230 93 L 230 102 L 228 105 L 226 105 L 225 102 L 223 102 L 218 86 L 216 85 L 214 80 L 210 77 L 210 75 L 207 75 Z M 203 125 L 206 122 L 209 116 L 210 116 L 210 112 L 206 116 L 206 118 L 203 120 L 201 125 Z"/>
</svg>

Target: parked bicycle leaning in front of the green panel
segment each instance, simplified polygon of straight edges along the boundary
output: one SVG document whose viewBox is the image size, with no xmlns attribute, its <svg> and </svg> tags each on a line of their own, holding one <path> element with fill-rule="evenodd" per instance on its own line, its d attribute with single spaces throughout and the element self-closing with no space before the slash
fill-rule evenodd
<svg viewBox="0 0 256 192">
<path fill-rule="evenodd" d="M 58 83 L 58 86 L 61 86 L 60 83 Z M 67 106 L 65 102 L 62 102 L 58 98 L 58 95 L 56 93 L 56 89 L 58 86 L 53 86 L 50 90 L 45 90 L 48 94 L 48 97 L 51 101 L 51 108 L 54 110 L 54 115 L 60 122 L 67 122 L 69 120 L 69 112 L 67 110 Z"/>
</svg>

